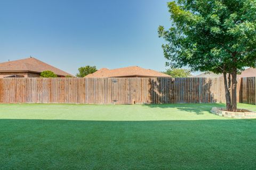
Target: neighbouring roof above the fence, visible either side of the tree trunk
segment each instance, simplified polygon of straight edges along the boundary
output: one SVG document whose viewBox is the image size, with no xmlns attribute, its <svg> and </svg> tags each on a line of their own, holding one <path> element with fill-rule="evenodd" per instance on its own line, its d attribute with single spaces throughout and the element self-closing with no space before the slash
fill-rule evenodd
<svg viewBox="0 0 256 170">
<path fill-rule="evenodd" d="M 195 77 L 222 77 L 222 74 L 214 74 L 210 73 L 202 73 Z M 237 77 L 256 77 L 256 68 L 247 68 L 241 72 L 241 74 L 237 75 Z"/>
</svg>

